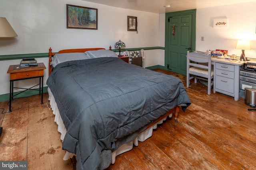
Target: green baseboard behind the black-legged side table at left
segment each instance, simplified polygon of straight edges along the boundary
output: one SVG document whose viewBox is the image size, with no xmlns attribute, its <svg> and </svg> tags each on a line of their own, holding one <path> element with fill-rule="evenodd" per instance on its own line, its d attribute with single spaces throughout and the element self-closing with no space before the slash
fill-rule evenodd
<svg viewBox="0 0 256 170">
<path fill-rule="evenodd" d="M 47 88 L 48 88 L 48 86 L 44 87 L 44 89 L 43 89 L 44 93 L 48 93 Z M 39 88 L 36 88 L 36 89 L 39 90 Z M 20 93 L 20 92 L 14 92 L 13 94 L 15 95 L 18 93 Z M 24 98 L 24 97 L 28 97 L 28 96 L 34 96 L 36 94 L 38 94 L 38 91 L 36 91 L 36 90 L 27 90 L 26 92 L 22 92 L 21 94 L 18 94 L 14 98 Z M 9 101 L 9 99 L 10 99 L 9 93 L 0 95 L 0 102 Z"/>
</svg>

